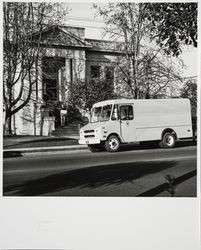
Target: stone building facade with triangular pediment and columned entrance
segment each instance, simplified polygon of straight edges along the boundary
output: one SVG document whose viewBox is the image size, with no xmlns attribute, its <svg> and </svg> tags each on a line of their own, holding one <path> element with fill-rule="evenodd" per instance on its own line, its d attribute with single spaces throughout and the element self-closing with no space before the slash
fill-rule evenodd
<svg viewBox="0 0 201 250">
<path fill-rule="evenodd" d="M 91 84 L 104 77 L 114 87 L 111 63 L 120 53 L 115 43 L 86 39 L 85 29 L 77 27 L 56 26 L 41 36 L 44 52 L 34 66 L 37 79 L 31 100 L 13 116 L 13 133 L 17 135 L 51 134 L 60 121 L 46 104 L 68 103 L 75 82 Z"/>
</svg>

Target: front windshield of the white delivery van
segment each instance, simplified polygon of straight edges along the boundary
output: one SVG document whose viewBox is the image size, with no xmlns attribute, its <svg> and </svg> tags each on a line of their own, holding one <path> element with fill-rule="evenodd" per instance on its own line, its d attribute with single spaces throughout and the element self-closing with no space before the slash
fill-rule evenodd
<svg viewBox="0 0 201 250">
<path fill-rule="evenodd" d="M 91 122 L 108 121 L 110 119 L 112 105 L 95 107 L 92 109 Z"/>
</svg>

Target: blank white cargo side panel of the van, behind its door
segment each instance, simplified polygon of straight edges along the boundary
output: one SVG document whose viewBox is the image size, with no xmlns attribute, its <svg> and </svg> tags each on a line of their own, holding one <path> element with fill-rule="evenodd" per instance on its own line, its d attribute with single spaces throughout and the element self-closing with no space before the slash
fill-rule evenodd
<svg viewBox="0 0 201 250">
<path fill-rule="evenodd" d="M 134 119 L 138 141 L 160 140 L 162 132 L 167 128 L 173 129 L 178 138 L 192 136 L 188 100 L 164 99 L 135 102 Z"/>
</svg>

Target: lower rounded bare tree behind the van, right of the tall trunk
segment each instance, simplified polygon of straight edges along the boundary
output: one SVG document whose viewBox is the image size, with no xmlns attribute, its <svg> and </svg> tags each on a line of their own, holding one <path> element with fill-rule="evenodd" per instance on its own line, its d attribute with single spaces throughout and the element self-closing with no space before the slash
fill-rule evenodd
<svg viewBox="0 0 201 250">
<path fill-rule="evenodd" d="M 183 62 L 180 62 L 181 67 Z M 161 53 L 161 49 L 148 49 L 142 53 L 139 67 L 140 98 L 170 96 L 170 88 L 182 84 L 179 63 Z M 172 88 L 173 89 L 173 88 Z"/>
</svg>

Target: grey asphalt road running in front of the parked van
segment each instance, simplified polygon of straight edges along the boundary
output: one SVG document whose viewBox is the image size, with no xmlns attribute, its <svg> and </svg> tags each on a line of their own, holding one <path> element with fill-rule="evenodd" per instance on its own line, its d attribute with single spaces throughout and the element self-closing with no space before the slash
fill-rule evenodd
<svg viewBox="0 0 201 250">
<path fill-rule="evenodd" d="M 166 175 L 195 171 L 196 149 L 188 144 L 169 150 L 132 146 L 117 153 L 63 151 L 6 158 L 3 195 L 138 196 L 164 183 Z M 184 190 L 181 196 L 196 196 L 193 180 L 190 194 Z"/>
</svg>

